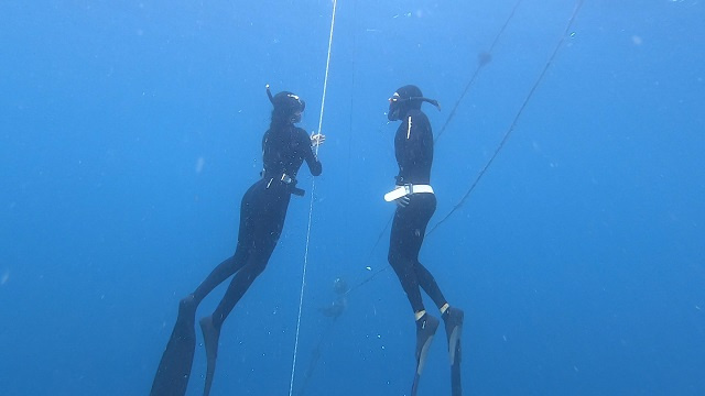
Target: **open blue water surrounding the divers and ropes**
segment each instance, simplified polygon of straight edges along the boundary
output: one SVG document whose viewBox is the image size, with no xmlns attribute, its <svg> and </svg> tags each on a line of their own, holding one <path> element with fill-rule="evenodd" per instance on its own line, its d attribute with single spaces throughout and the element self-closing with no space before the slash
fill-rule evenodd
<svg viewBox="0 0 705 396">
<path fill-rule="evenodd" d="M 387 266 L 387 98 L 420 86 L 443 106 L 425 107 L 437 132 L 513 6 L 339 1 L 294 391 L 321 342 L 306 395 L 409 394 L 411 309 L 391 271 L 361 284 Z M 491 157 L 574 7 L 518 8 L 437 143 L 432 224 Z M 178 299 L 235 249 L 264 85 L 299 94 L 302 125 L 318 128 L 330 13 L 330 1 L 0 3 L 1 395 L 149 393 Z M 466 310 L 466 395 L 705 394 L 703 21 L 699 0 L 586 0 L 502 151 L 427 238 L 422 262 Z M 289 394 L 301 174 L 306 197 L 224 327 L 213 395 Z M 336 276 L 361 286 L 333 322 L 317 308 Z M 445 348 L 438 337 L 420 395 L 449 394 Z M 189 395 L 204 374 L 199 344 Z"/>
</svg>

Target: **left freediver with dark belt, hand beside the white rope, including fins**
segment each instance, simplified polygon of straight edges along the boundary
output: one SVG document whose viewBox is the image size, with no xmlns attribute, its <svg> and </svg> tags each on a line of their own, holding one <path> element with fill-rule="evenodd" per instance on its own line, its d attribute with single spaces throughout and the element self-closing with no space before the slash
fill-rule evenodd
<svg viewBox="0 0 705 396">
<path fill-rule="evenodd" d="M 196 308 L 216 286 L 235 275 L 213 315 L 200 320 L 208 363 L 204 395 L 210 393 L 220 328 L 254 278 L 264 271 L 281 235 L 291 195 L 304 194 L 296 188 L 299 168 L 305 161 L 313 176 L 321 175 L 322 165 L 313 146 L 322 144 L 325 136 L 308 136 L 294 125 L 301 121 L 305 102 L 288 91 L 272 96 L 269 86 L 267 95 L 274 109 L 270 128 L 262 139 L 264 169 L 262 178 L 242 197 L 237 249 L 194 293 L 181 300 L 178 318 L 156 371 L 151 396 L 186 393 L 195 350 Z"/>
</svg>

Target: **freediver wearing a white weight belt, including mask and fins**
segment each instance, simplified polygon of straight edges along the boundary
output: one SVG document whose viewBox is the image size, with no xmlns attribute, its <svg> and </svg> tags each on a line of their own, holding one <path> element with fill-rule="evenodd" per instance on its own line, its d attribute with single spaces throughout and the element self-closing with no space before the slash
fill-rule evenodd
<svg viewBox="0 0 705 396">
<path fill-rule="evenodd" d="M 429 118 L 421 111 L 424 101 L 440 109 L 435 100 L 424 98 L 421 89 L 412 85 L 399 88 L 389 99 L 387 117 L 390 121 L 401 121 L 401 125 L 394 136 L 394 152 L 399 164 L 397 187 L 384 195 L 387 201 L 398 205 L 388 258 L 406 293 L 416 319 L 416 372 L 411 395 L 416 395 L 426 352 L 440 324 L 438 319 L 426 312 L 421 298 L 421 287 L 433 299 L 444 319 L 451 355 L 453 396 L 459 396 L 460 332 L 464 312 L 448 305 L 433 275 L 419 262 L 419 251 L 426 226 L 436 210 L 436 197 L 430 185 L 433 132 Z"/>
</svg>

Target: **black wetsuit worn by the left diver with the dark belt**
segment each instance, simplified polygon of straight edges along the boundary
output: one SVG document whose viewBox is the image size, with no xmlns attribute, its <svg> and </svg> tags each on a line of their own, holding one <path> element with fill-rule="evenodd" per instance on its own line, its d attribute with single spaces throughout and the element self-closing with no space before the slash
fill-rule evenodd
<svg viewBox="0 0 705 396">
<path fill-rule="evenodd" d="M 262 157 L 262 178 L 242 197 L 235 255 L 220 263 L 194 292 L 198 305 L 216 286 L 235 274 L 213 314 L 216 328 L 220 328 L 254 278 L 264 271 L 281 235 L 291 194 L 296 191 L 296 173 L 302 163 L 306 161 L 314 176 L 322 172 L 308 134 L 292 124 L 271 128 L 264 133 Z"/>
</svg>

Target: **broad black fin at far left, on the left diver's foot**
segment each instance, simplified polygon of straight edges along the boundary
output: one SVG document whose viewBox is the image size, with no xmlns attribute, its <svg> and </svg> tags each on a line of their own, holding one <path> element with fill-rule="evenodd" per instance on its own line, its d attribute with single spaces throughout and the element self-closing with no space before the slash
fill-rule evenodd
<svg viewBox="0 0 705 396">
<path fill-rule="evenodd" d="M 196 309 L 192 300 L 178 306 L 174 330 L 156 369 L 150 396 L 183 396 L 186 394 L 196 350 Z"/>
</svg>

